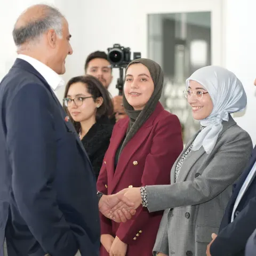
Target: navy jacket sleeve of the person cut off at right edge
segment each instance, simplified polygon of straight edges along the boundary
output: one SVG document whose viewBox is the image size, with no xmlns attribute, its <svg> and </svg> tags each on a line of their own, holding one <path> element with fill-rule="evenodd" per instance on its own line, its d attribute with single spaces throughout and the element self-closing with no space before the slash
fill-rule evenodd
<svg viewBox="0 0 256 256">
<path fill-rule="evenodd" d="M 256 227 L 256 197 L 251 198 L 235 220 L 223 228 L 212 243 L 212 256 L 229 256 L 244 251 L 247 239 Z"/>
</svg>

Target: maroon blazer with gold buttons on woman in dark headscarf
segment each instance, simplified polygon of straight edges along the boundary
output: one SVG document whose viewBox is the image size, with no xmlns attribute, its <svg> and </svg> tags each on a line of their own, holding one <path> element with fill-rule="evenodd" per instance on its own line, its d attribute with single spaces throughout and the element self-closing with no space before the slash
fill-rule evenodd
<svg viewBox="0 0 256 256">
<path fill-rule="evenodd" d="M 178 117 L 158 102 L 153 114 L 124 147 L 115 170 L 116 150 L 128 124 L 129 118 L 125 118 L 114 126 L 97 182 L 97 189 L 104 194 L 115 194 L 129 186 L 170 184 L 172 165 L 183 149 Z M 101 234 L 118 236 L 128 244 L 126 255 L 148 256 L 152 254 L 162 215 L 162 211 L 149 213 L 140 206 L 132 220 L 117 223 L 100 214 Z M 100 255 L 109 256 L 103 246 Z"/>
</svg>

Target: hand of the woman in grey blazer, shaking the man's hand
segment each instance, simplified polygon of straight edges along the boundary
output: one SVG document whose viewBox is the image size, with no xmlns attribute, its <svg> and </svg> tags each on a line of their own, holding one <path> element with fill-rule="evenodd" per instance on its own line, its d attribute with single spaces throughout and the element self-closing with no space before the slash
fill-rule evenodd
<svg viewBox="0 0 256 256">
<path fill-rule="evenodd" d="M 137 209 L 142 202 L 141 194 L 140 194 L 140 188 L 126 188 L 121 190 L 116 195 L 121 195 L 121 202 L 119 202 L 117 205 L 113 207 L 110 211 L 110 219 L 118 220 L 118 219 L 124 219 L 125 215 L 127 214 L 127 209 L 125 207 L 125 204 L 127 201 L 133 203 L 133 209 Z"/>
</svg>

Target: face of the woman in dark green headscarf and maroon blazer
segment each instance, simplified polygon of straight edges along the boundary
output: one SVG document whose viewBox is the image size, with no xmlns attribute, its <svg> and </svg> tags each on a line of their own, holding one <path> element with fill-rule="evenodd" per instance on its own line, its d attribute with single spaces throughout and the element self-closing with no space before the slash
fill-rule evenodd
<svg viewBox="0 0 256 256">
<path fill-rule="evenodd" d="M 142 63 L 133 63 L 126 71 L 124 95 L 134 110 L 145 107 L 154 92 L 154 82 L 149 70 Z"/>
</svg>

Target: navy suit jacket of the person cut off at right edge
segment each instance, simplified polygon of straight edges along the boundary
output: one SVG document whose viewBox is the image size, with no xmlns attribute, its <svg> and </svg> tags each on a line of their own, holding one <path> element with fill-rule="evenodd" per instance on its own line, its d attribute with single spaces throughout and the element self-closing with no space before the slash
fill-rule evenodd
<svg viewBox="0 0 256 256">
<path fill-rule="evenodd" d="M 242 256 L 245 245 L 254 229 L 256 229 L 256 177 L 245 191 L 235 212 L 235 219 L 231 221 L 236 198 L 243 183 L 256 161 L 256 147 L 252 151 L 249 164 L 234 188 L 223 216 L 218 237 L 212 243 L 210 251 L 212 256 Z M 228 163 L 227 163 L 228 164 Z M 255 252 L 256 255 L 256 252 Z"/>
</svg>

